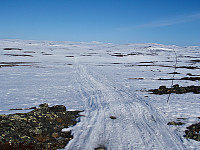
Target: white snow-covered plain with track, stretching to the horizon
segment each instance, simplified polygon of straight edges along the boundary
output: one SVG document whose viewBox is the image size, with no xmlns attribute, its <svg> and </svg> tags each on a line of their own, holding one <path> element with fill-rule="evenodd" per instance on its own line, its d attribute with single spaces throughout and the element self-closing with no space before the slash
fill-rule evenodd
<svg viewBox="0 0 200 150">
<path fill-rule="evenodd" d="M 199 142 L 183 135 L 199 122 L 200 95 L 172 94 L 167 103 L 168 95 L 147 91 L 171 86 L 170 80 L 158 79 L 172 78 L 174 51 L 180 66 L 176 79 L 200 74 L 197 46 L 0 40 L 0 113 L 44 102 L 84 110 L 80 122 L 70 127 L 74 138 L 67 150 L 199 149 Z M 199 83 L 174 81 L 180 86 Z M 177 118 L 186 118 L 186 124 L 167 125 Z"/>
</svg>

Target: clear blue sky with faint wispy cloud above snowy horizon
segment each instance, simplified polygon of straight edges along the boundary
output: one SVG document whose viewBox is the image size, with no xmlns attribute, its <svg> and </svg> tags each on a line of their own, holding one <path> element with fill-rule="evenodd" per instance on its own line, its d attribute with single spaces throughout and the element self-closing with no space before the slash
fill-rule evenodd
<svg viewBox="0 0 200 150">
<path fill-rule="evenodd" d="M 0 39 L 200 46 L 200 0 L 0 0 Z"/>
</svg>

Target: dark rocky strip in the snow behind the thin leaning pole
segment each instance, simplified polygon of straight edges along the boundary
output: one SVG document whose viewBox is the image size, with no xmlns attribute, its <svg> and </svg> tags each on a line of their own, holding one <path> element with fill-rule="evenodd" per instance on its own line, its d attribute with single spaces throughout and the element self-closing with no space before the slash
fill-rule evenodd
<svg viewBox="0 0 200 150">
<path fill-rule="evenodd" d="M 187 87 L 179 87 L 178 84 L 174 85 L 172 88 L 166 88 L 166 86 L 160 86 L 158 89 L 150 89 L 149 92 L 152 92 L 151 94 L 170 94 L 170 93 L 176 93 L 176 94 L 184 94 L 184 93 L 190 93 L 193 92 L 195 94 L 200 94 L 200 86 L 187 86 Z"/>
</svg>

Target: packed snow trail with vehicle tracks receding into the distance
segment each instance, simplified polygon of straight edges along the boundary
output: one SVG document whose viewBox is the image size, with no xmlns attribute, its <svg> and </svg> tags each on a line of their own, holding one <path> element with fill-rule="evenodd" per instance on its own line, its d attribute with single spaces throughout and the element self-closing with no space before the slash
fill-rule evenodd
<svg viewBox="0 0 200 150">
<path fill-rule="evenodd" d="M 76 63 L 75 82 L 85 103 L 84 117 L 73 128 L 67 150 L 179 150 L 181 139 L 162 115 L 142 98 L 109 82 L 88 66 Z M 115 116 L 116 119 L 111 119 Z"/>
</svg>

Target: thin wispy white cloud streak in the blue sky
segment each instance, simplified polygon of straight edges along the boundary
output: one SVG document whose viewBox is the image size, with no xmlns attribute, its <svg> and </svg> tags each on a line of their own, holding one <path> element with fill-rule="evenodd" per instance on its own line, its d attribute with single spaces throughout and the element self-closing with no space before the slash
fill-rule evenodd
<svg viewBox="0 0 200 150">
<path fill-rule="evenodd" d="M 146 24 L 135 25 L 132 27 L 130 26 L 122 27 L 122 28 L 118 28 L 118 30 L 134 30 L 134 29 L 139 29 L 139 28 L 165 27 L 165 26 L 172 26 L 172 25 L 181 24 L 181 23 L 192 22 L 199 19 L 200 19 L 200 13 L 197 13 L 193 15 L 173 17 L 166 20 L 159 20 L 159 21 L 154 21 L 154 22 L 150 22 Z"/>
</svg>

